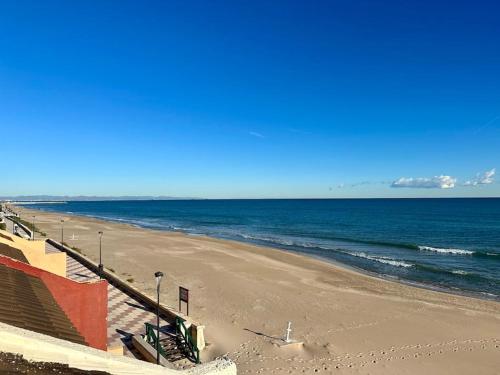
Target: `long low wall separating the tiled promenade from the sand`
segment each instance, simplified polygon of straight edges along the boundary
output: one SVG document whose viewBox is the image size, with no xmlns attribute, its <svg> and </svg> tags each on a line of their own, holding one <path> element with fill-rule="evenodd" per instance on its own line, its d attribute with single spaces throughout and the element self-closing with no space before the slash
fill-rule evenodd
<svg viewBox="0 0 500 375">
<path fill-rule="evenodd" d="M 83 264 L 84 266 L 88 267 L 92 271 L 99 272 L 98 265 L 96 263 L 94 263 L 93 261 L 91 261 L 86 256 L 77 253 L 73 249 L 62 245 L 61 243 L 54 241 L 51 238 L 47 239 L 47 243 L 49 243 L 50 245 L 54 246 L 55 248 L 57 248 L 61 251 L 64 251 L 69 256 L 71 256 L 72 258 L 74 258 L 75 260 L 77 260 L 78 262 Z M 110 284 L 117 287 L 118 289 L 128 293 L 129 295 L 133 296 L 138 301 L 141 301 L 142 303 L 144 303 L 146 306 L 156 310 L 157 303 L 155 300 L 151 299 L 150 297 L 146 296 L 142 292 L 133 288 L 132 286 L 130 286 L 130 284 L 123 281 L 122 279 L 120 279 L 119 277 L 114 275 L 113 273 L 108 272 L 106 270 L 103 270 L 102 277 L 104 279 L 106 279 Z M 197 324 L 191 318 L 185 316 L 184 314 L 182 314 L 180 312 L 172 311 L 172 310 L 170 310 L 162 305 L 160 305 L 160 316 L 162 317 L 162 319 L 166 320 L 167 322 L 169 322 L 171 324 L 175 323 L 175 319 L 177 317 L 180 317 L 180 318 L 186 320 L 186 326 L 189 327 L 193 338 L 196 338 L 196 343 L 197 343 L 198 349 L 203 350 L 205 348 L 205 336 L 204 336 L 204 332 L 203 332 L 205 329 L 205 326 Z"/>
</svg>

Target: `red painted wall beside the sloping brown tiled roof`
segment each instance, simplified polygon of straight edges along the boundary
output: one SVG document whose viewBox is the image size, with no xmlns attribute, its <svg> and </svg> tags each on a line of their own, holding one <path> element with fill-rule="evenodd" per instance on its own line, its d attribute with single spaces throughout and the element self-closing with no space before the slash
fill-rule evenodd
<svg viewBox="0 0 500 375">
<path fill-rule="evenodd" d="M 89 346 L 107 349 L 108 282 L 78 283 L 1 256 L 0 264 L 41 279 Z"/>
</svg>

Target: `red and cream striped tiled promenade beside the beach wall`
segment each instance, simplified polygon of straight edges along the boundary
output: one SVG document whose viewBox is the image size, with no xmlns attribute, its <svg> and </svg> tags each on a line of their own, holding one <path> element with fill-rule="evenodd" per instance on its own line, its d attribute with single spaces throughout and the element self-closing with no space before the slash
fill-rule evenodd
<svg viewBox="0 0 500 375">
<path fill-rule="evenodd" d="M 50 244 L 46 245 L 47 253 L 59 252 Z M 77 260 L 66 257 L 67 277 L 78 281 L 88 282 L 99 279 L 99 276 Z M 108 284 L 108 347 L 120 345 L 127 346 L 130 337 L 134 334 L 145 332 L 144 323 L 156 325 L 156 314 L 148 307 L 129 296 L 115 286 Z M 160 326 L 167 325 L 167 322 L 160 321 Z M 125 353 L 133 356 L 128 350 Z"/>
</svg>

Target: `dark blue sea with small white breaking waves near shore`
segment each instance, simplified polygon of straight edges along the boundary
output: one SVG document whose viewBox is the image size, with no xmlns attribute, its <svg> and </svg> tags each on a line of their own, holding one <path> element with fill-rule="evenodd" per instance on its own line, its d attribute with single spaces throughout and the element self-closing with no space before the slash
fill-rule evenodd
<svg viewBox="0 0 500 375">
<path fill-rule="evenodd" d="M 500 199 L 99 201 L 46 211 L 251 242 L 431 287 L 500 296 Z"/>
</svg>

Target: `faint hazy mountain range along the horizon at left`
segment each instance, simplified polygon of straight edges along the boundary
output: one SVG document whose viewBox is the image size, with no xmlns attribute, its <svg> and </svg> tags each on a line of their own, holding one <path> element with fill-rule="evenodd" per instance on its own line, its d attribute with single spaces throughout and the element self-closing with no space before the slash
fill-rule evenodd
<svg viewBox="0 0 500 375">
<path fill-rule="evenodd" d="M 64 196 L 64 195 L 18 195 L 18 196 L 0 196 L 0 201 L 16 202 L 68 202 L 68 201 L 149 201 L 149 200 L 194 200 L 200 198 L 191 197 L 167 197 L 167 196 Z"/>
</svg>

